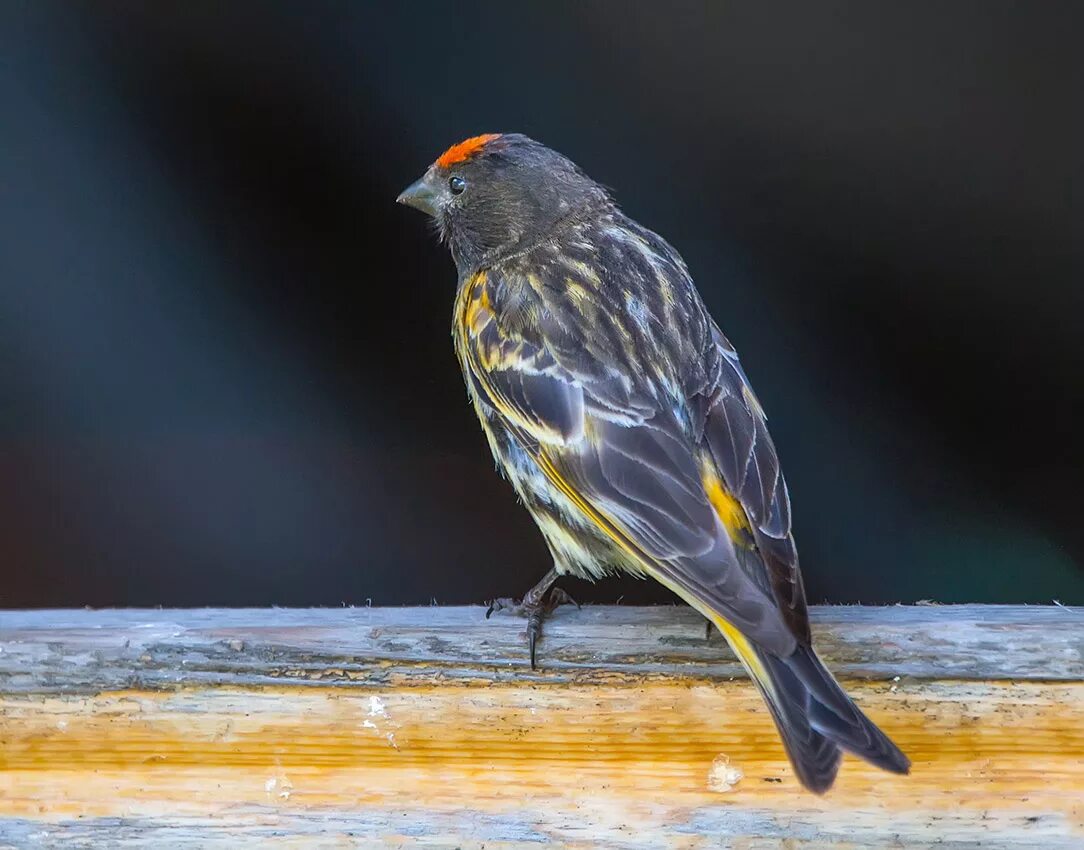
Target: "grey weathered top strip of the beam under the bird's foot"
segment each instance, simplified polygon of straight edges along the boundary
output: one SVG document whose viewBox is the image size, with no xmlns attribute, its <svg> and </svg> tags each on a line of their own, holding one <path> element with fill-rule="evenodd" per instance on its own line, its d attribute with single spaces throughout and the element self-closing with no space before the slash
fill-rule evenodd
<svg viewBox="0 0 1084 850">
<path fill-rule="evenodd" d="M 1079 609 L 820 607 L 813 619 L 817 651 L 842 677 L 1084 679 Z M 0 611 L 0 692 L 745 674 L 688 608 L 560 608 L 537 673 L 522 630 L 479 607 Z"/>
</svg>

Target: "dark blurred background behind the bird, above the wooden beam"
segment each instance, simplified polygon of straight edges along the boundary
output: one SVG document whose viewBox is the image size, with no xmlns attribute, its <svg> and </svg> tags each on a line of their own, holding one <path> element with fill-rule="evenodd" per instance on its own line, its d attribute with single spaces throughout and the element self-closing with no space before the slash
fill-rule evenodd
<svg viewBox="0 0 1084 850">
<path fill-rule="evenodd" d="M 813 601 L 1084 603 L 1082 17 L 3 3 L 0 605 L 533 583 L 451 260 L 393 203 L 502 130 L 683 253 L 771 416 Z"/>
</svg>

